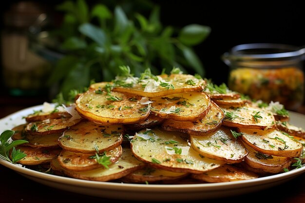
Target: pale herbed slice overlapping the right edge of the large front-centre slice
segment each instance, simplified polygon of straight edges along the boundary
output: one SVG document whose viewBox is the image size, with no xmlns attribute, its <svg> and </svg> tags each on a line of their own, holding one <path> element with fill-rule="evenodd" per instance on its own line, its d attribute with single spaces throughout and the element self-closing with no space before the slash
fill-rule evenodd
<svg viewBox="0 0 305 203">
<path fill-rule="evenodd" d="M 239 139 L 236 139 L 229 128 L 221 127 L 206 136 L 190 135 L 191 147 L 203 156 L 226 163 L 242 162 L 248 154 Z"/>
</svg>

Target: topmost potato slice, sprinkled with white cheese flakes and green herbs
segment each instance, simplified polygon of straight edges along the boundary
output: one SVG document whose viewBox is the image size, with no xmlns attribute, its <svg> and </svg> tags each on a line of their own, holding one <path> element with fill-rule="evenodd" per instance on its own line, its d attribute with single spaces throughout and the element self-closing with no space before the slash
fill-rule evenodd
<svg viewBox="0 0 305 203">
<path fill-rule="evenodd" d="M 201 91 L 206 85 L 203 79 L 198 79 L 191 74 L 163 74 L 154 78 L 142 79 L 131 83 L 130 86 L 116 85 L 113 91 L 128 92 L 144 97 L 158 97 L 170 94 Z"/>
</svg>

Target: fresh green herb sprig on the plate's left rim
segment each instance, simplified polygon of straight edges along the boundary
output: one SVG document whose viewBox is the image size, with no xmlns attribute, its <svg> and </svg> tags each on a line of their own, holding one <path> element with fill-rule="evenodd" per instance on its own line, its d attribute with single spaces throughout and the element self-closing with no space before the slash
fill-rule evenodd
<svg viewBox="0 0 305 203">
<path fill-rule="evenodd" d="M 14 130 L 5 130 L 0 135 L 0 158 L 9 161 L 11 163 L 17 163 L 19 160 L 23 159 L 26 154 L 21 152 L 20 149 L 16 150 L 16 146 L 28 143 L 26 140 L 14 140 L 10 142 L 10 138 L 14 135 Z M 11 158 L 10 158 L 10 150 Z"/>
</svg>

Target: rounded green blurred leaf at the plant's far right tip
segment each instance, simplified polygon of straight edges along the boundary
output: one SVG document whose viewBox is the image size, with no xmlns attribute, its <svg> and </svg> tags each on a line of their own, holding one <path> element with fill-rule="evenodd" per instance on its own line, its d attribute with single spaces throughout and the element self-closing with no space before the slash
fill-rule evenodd
<svg viewBox="0 0 305 203">
<path fill-rule="evenodd" d="M 209 36 L 210 30 L 209 26 L 187 25 L 180 31 L 178 39 L 187 46 L 197 45 Z"/>
</svg>

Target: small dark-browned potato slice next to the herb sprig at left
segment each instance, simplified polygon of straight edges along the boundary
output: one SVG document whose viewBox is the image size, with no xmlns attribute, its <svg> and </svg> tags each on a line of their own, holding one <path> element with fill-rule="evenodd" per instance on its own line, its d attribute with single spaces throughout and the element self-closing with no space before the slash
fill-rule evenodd
<svg viewBox="0 0 305 203">
<path fill-rule="evenodd" d="M 20 149 L 26 154 L 26 157 L 21 159 L 18 163 L 23 165 L 40 165 L 50 163 L 54 157 L 60 154 L 61 149 L 38 149 L 31 147 L 17 146 L 16 150 Z"/>
</svg>

